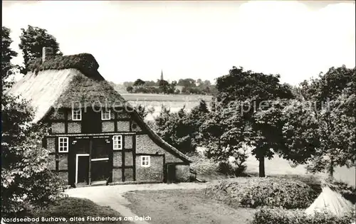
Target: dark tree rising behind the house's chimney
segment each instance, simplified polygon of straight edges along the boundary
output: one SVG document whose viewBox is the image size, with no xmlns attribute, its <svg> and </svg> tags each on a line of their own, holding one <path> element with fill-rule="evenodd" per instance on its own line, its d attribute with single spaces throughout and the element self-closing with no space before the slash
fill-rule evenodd
<svg viewBox="0 0 356 224">
<path fill-rule="evenodd" d="M 43 47 L 51 47 L 53 56 L 62 55 L 56 38 L 46 29 L 28 25 L 26 29 L 21 28 L 21 31 L 19 47 L 25 66 L 30 60 L 41 58 Z"/>
</svg>

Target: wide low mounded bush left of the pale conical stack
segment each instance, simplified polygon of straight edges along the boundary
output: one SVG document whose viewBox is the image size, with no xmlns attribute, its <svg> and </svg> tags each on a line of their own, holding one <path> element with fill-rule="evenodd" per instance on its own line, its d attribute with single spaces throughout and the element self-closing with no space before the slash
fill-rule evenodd
<svg viewBox="0 0 356 224">
<path fill-rule="evenodd" d="M 283 178 L 235 178 L 211 184 L 206 194 L 236 207 L 307 208 L 318 196 L 310 186 Z"/>
</svg>

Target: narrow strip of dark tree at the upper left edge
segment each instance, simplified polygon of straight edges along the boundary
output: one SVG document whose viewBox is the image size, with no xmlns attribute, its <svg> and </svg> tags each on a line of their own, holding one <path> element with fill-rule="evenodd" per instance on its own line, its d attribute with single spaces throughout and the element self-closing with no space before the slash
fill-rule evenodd
<svg viewBox="0 0 356 224">
<path fill-rule="evenodd" d="M 11 59 L 16 57 L 17 53 L 10 48 L 10 29 L 4 26 L 1 28 L 1 43 L 1 83 L 6 84 L 4 87 L 10 87 L 11 82 L 6 79 L 14 73 L 16 66 L 11 63 Z"/>
</svg>

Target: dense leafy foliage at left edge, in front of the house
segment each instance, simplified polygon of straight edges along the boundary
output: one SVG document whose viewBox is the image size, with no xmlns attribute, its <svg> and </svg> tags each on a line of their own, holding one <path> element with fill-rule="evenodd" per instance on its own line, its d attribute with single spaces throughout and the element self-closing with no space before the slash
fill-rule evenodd
<svg viewBox="0 0 356 224">
<path fill-rule="evenodd" d="M 31 124 L 33 110 L 19 97 L 1 97 L 1 212 L 4 216 L 46 206 L 61 183 L 48 170 L 41 125 Z"/>
</svg>

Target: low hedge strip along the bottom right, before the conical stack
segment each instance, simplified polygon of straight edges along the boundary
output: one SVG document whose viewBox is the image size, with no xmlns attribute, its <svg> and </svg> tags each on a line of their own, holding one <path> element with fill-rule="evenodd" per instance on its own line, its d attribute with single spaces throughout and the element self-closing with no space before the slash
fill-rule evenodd
<svg viewBox="0 0 356 224">
<path fill-rule="evenodd" d="M 352 214 L 337 217 L 329 213 L 307 215 L 303 210 L 266 209 L 258 210 L 253 217 L 253 224 L 350 224 L 355 217 Z"/>
</svg>

